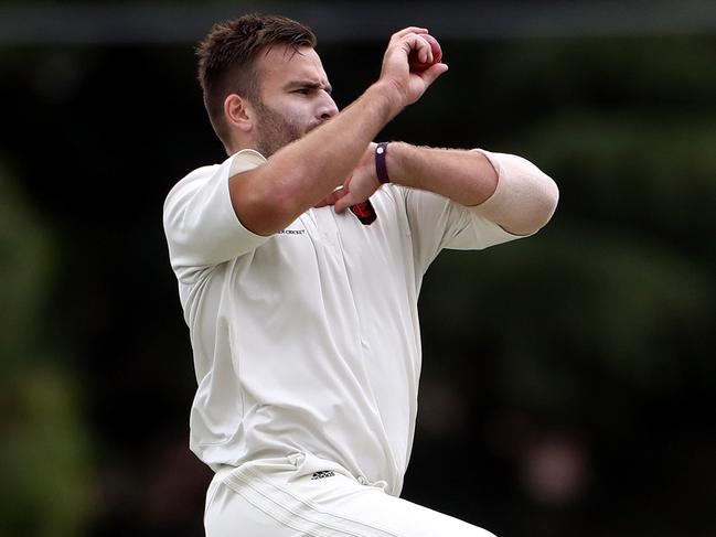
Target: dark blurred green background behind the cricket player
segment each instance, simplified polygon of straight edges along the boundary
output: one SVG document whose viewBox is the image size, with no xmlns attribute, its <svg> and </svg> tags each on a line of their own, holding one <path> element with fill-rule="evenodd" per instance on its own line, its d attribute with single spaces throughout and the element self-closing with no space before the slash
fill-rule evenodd
<svg viewBox="0 0 716 537">
<path fill-rule="evenodd" d="M 499 537 L 716 536 L 713 2 L 24 2 L 0 7 L 0 534 L 193 536 L 191 347 L 161 228 L 223 160 L 193 44 L 312 25 L 340 106 L 389 33 L 450 72 L 381 139 L 524 155 L 538 235 L 444 253 L 403 496 Z"/>
</svg>

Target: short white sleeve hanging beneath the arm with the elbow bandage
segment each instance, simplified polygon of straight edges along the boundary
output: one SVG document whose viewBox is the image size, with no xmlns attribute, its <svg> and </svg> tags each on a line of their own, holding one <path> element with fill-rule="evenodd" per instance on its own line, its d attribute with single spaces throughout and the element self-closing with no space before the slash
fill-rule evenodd
<svg viewBox="0 0 716 537">
<path fill-rule="evenodd" d="M 444 248 L 483 249 L 520 238 L 445 196 L 399 189 L 405 197 L 415 261 L 424 271 Z"/>
</svg>

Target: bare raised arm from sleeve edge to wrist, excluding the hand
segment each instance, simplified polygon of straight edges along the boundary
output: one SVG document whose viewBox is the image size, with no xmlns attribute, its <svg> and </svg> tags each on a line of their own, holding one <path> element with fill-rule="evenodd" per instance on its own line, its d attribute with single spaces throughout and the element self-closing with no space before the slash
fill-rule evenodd
<svg viewBox="0 0 716 537">
<path fill-rule="evenodd" d="M 265 165 L 229 183 L 242 223 L 269 235 L 293 222 L 351 174 L 365 148 L 399 111 L 391 88 L 376 83 L 306 137 L 277 151 Z"/>
</svg>

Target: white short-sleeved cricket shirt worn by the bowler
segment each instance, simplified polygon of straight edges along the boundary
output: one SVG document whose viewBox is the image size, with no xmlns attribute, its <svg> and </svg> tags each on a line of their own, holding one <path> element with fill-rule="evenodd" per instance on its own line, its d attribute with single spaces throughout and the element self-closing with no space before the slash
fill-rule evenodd
<svg viewBox="0 0 716 537">
<path fill-rule="evenodd" d="M 261 237 L 236 217 L 228 179 L 263 162 L 244 150 L 200 168 L 164 204 L 199 384 L 191 449 L 214 470 L 309 452 L 398 495 L 417 411 L 423 275 L 441 248 L 517 237 L 394 184 L 371 197 L 371 225 L 327 206 Z"/>
</svg>

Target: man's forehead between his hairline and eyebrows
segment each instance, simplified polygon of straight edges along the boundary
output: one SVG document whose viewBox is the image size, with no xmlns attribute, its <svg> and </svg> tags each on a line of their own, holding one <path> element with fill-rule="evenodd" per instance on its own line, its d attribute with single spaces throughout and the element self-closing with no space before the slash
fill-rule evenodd
<svg viewBox="0 0 716 537">
<path fill-rule="evenodd" d="M 301 46 L 296 51 L 289 45 L 276 45 L 259 55 L 257 66 L 264 88 L 293 79 L 328 85 L 328 75 L 321 58 L 310 46 Z"/>
</svg>

